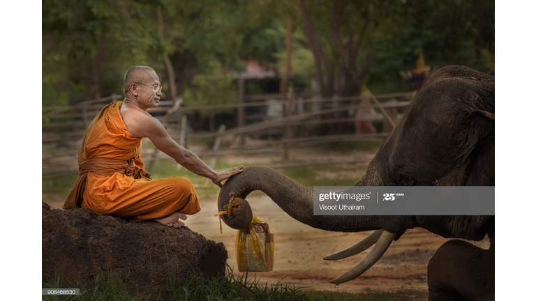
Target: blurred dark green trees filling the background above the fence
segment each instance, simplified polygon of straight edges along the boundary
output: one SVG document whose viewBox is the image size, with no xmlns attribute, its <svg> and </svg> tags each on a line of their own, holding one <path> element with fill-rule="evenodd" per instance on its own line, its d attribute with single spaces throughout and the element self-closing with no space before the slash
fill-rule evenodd
<svg viewBox="0 0 536 301">
<path fill-rule="evenodd" d="M 284 72 L 288 19 L 295 90 L 315 80 L 325 97 L 363 84 L 411 91 L 399 72 L 416 68 L 419 47 L 432 70 L 493 72 L 494 10 L 485 0 L 44 0 L 43 106 L 123 94 L 132 65 L 158 72 L 163 99 L 173 70 L 184 105 L 230 102 L 244 61 Z M 251 82 L 246 93 L 277 91 Z"/>
</svg>

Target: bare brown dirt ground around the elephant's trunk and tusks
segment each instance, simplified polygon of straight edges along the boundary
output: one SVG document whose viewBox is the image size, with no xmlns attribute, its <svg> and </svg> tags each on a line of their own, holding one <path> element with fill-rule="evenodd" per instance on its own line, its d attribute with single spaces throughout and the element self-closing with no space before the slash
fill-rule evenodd
<svg viewBox="0 0 536 301">
<path fill-rule="evenodd" d="M 310 152 L 303 149 L 293 150 L 292 157 L 299 157 L 299 161 L 315 160 L 348 160 L 354 158 L 357 162 L 368 163 L 375 151 L 353 151 L 337 154 L 330 152 Z M 247 164 L 248 158 L 227 157 L 231 164 Z M 253 160 L 253 159 L 251 159 Z M 269 165 L 281 160 L 281 154 L 267 155 L 263 160 L 255 157 L 257 164 Z M 348 173 L 348 171 L 343 171 Z M 338 174 L 336 170 L 322 175 L 324 178 L 360 178 L 364 171 L 355 171 L 352 174 Z M 234 268 L 235 275 L 240 275 L 237 268 L 234 240 L 237 231 L 223 224 L 223 234 L 220 233 L 220 224 L 217 213 L 216 197 L 201 199 L 201 212 L 188 216 L 186 226 L 208 239 L 223 242 L 228 250 L 228 264 Z M 269 224 L 274 233 L 276 244 L 274 270 L 271 272 L 250 273 L 249 277 L 260 278 L 262 283 L 276 283 L 280 281 L 289 286 L 301 287 L 303 290 L 341 291 L 359 293 L 364 288 L 378 291 L 396 291 L 401 288 L 427 290 L 426 265 L 429 259 L 448 239 L 437 236 L 424 229 L 411 229 L 398 241 L 392 243 L 387 252 L 370 270 L 362 276 L 344 284 L 330 284 L 329 281 L 342 275 L 348 269 L 359 263 L 368 254 L 345 258 L 339 261 L 324 261 L 323 257 L 341 251 L 359 242 L 371 232 L 338 233 L 313 229 L 301 224 L 283 212 L 268 196 L 260 192 L 248 196 L 253 214 Z M 57 194 L 43 194 L 43 201 L 52 208 L 61 208 L 63 197 Z M 483 248 L 489 247 L 489 240 L 472 242 Z"/>
</svg>

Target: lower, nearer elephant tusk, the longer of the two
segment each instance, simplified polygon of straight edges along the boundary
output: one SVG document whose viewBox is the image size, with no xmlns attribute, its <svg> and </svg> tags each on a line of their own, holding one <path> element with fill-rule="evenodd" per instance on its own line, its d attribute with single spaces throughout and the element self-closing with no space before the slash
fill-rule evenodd
<svg viewBox="0 0 536 301">
<path fill-rule="evenodd" d="M 343 275 L 337 277 L 333 281 L 331 281 L 332 284 L 341 284 L 346 281 L 350 281 L 352 279 L 355 279 L 359 277 L 359 275 L 362 275 L 366 270 L 371 268 L 371 266 L 378 261 L 382 255 L 389 249 L 389 246 L 391 245 L 391 242 L 394 240 L 394 237 L 396 236 L 396 233 L 391 233 L 389 231 L 383 231 L 382 236 L 380 236 L 380 239 L 378 239 L 378 242 L 373 247 L 370 253 L 368 253 L 365 258 L 363 258 L 362 261 L 357 263 L 355 267 L 348 270 L 348 272 L 345 272 Z"/>
</svg>

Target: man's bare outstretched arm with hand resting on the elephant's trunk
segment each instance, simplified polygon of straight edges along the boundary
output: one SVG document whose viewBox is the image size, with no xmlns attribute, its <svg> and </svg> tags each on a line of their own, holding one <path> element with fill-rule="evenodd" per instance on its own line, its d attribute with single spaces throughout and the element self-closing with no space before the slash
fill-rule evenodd
<svg viewBox="0 0 536 301">
<path fill-rule="evenodd" d="M 240 173 L 244 166 L 234 167 L 226 171 L 214 171 L 205 164 L 198 155 L 186 148 L 180 146 L 171 139 L 160 121 L 151 117 L 151 122 L 147 123 L 147 128 L 144 130 L 144 137 L 148 137 L 153 142 L 154 146 L 163 151 L 166 155 L 172 157 L 178 164 L 195 173 L 198 176 L 209 178 L 212 182 L 221 187 L 221 182 L 230 178 L 230 176 Z"/>
</svg>

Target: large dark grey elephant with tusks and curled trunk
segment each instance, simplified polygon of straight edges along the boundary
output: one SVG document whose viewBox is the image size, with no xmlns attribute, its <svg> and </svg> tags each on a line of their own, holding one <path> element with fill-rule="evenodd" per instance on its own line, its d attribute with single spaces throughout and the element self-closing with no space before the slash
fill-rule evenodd
<svg viewBox="0 0 536 301">
<path fill-rule="evenodd" d="M 440 68 L 413 98 L 356 186 L 494 186 L 495 75 L 461 65 Z M 334 260 L 375 245 L 354 268 L 332 283 L 362 275 L 408 229 L 422 227 L 449 240 L 429 261 L 429 300 L 493 300 L 495 295 L 495 217 L 435 215 L 313 215 L 313 190 L 266 167 L 246 167 L 223 185 L 218 210 L 230 198 L 240 200 L 222 219 L 233 229 L 251 222 L 245 200 L 265 192 L 299 222 L 327 231 L 375 230 Z M 489 249 L 464 240 L 490 239 Z M 463 240 L 461 240 L 463 239 Z"/>
</svg>

